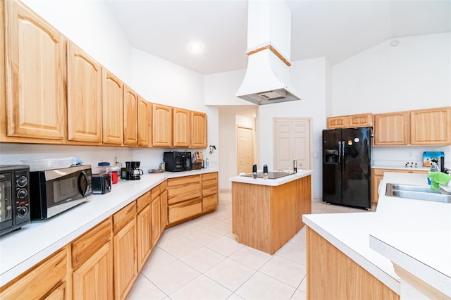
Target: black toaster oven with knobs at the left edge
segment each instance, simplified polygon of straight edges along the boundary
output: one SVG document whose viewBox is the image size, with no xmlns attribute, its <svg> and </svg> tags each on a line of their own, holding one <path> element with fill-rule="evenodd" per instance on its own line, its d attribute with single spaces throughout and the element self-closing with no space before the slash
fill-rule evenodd
<svg viewBox="0 0 451 300">
<path fill-rule="evenodd" d="M 0 236 L 30 223 L 29 191 L 29 165 L 0 165 Z"/>
</svg>

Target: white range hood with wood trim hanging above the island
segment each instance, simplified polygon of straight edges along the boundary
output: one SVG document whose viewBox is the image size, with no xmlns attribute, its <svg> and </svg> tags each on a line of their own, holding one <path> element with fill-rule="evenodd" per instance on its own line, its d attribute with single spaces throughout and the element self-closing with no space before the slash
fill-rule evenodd
<svg viewBox="0 0 451 300">
<path fill-rule="evenodd" d="M 249 0 L 248 9 L 247 70 L 236 96 L 259 105 L 299 100 L 290 80 L 290 8 Z"/>
</svg>

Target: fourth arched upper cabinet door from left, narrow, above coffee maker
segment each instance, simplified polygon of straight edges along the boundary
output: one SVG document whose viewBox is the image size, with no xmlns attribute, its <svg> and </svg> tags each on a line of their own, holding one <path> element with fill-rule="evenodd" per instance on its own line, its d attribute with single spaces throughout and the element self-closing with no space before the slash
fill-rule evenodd
<svg viewBox="0 0 451 300">
<path fill-rule="evenodd" d="M 124 85 L 124 145 L 138 144 L 138 94 Z"/>
</svg>

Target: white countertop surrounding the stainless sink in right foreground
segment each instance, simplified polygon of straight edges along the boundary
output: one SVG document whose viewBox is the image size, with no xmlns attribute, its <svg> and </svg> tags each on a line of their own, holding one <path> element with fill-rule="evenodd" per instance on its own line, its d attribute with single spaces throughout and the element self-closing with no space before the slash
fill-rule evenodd
<svg viewBox="0 0 451 300">
<path fill-rule="evenodd" d="M 373 249 L 376 239 L 386 245 L 385 249 L 397 249 L 398 265 L 404 265 L 406 270 L 421 273 L 427 269 L 429 273 L 443 275 L 425 276 L 429 285 L 436 289 L 443 284 L 451 287 L 451 204 L 385 196 L 387 183 L 427 185 L 427 175 L 387 172 L 376 212 L 304 215 L 304 223 L 397 294 L 400 277 L 386 253 L 382 255 Z M 412 259 L 408 258 L 410 255 Z"/>
</svg>

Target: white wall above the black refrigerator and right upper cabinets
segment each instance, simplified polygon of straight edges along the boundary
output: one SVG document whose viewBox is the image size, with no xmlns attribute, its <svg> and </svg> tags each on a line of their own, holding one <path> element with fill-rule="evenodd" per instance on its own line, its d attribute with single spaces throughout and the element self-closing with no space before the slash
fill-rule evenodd
<svg viewBox="0 0 451 300">
<path fill-rule="evenodd" d="M 333 66 L 332 115 L 451 105 L 451 33 L 397 40 Z"/>
</svg>

